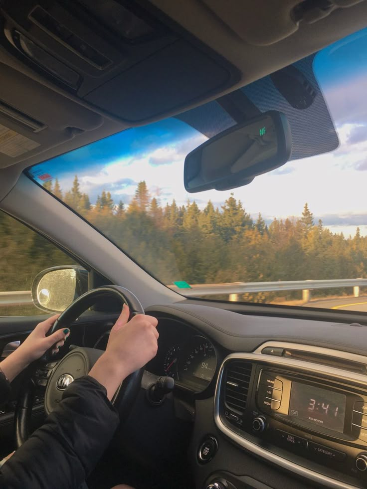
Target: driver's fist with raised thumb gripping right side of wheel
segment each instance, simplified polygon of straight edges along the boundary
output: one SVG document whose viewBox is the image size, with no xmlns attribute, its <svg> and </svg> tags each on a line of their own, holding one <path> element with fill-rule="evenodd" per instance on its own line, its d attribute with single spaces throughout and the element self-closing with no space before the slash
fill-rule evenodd
<svg viewBox="0 0 367 489">
<path fill-rule="evenodd" d="M 124 305 L 111 329 L 106 351 L 89 372 L 91 377 L 106 387 L 109 399 L 129 374 L 143 367 L 157 354 L 157 319 L 138 314 L 129 321 L 129 315 L 129 308 Z"/>
</svg>

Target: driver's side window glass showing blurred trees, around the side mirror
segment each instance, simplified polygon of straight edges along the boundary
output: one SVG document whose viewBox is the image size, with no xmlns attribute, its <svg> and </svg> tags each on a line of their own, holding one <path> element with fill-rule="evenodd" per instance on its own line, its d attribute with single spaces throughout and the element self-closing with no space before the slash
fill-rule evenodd
<svg viewBox="0 0 367 489">
<path fill-rule="evenodd" d="M 0 211 L 0 317 L 45 314 L 31 299 L 31 286 L 42 270 L 77 265 L 35 231 Z"/>
</svg>

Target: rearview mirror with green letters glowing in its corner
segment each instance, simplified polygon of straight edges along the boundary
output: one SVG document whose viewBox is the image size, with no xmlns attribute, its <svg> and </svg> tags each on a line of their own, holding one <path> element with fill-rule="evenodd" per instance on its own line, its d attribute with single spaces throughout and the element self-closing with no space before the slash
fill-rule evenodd
<svg viewBox="0 0 367 489">
<path fill-rule="evenodd" d="M 233 126 L 191 151 L 184 163 L 187 192 L 228 190 L 287 163 L 291 129 L 282 112 L 269 111 Z"/>
</svg>

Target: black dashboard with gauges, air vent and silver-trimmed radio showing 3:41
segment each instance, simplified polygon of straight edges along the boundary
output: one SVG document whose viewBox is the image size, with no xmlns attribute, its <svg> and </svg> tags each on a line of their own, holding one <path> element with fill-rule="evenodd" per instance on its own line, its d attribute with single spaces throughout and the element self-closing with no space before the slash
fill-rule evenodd
<svg viewBox="0 0 367 489">
<path fill-rule="evenodd" d="M 367 487 L 365 327 L 191 304 L 147 314 L 159 320 L 160 338 L 142 385 L 175 380 L 159 408 L 162 426 L 171 403 L 175 443 L 157 465 L 174 453 L 181 418 L 193 423 L 188 458 L 197 489 Z M 159 425 L 158 413 L 151 420 Z M 169 446 L 162 431 L 152 438 Z"/>
</svg>

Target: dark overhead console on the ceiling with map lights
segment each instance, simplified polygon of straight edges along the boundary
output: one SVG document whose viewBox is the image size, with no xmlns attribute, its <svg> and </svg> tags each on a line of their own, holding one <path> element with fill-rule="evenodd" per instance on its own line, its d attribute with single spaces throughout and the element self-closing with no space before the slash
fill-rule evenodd
<svg viewBox="0 0 367 489">
<path fill-rule="evenodd" d="M 1 2 L 2 45 L 51 84 L 128 122 L 224 90 L 238 71 L 149 2 Z"/>
</svg>

